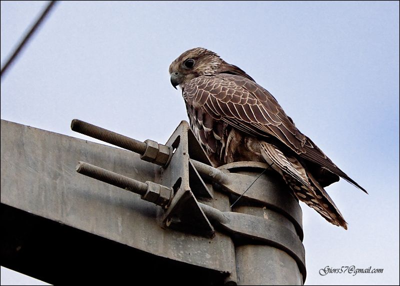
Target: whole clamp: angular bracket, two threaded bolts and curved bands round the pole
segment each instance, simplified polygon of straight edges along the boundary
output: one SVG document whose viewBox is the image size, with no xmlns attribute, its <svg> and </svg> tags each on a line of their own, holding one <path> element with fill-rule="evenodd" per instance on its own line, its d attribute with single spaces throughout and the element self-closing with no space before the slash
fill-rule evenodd
<svg viewBox="0 0 400 286">
<path fill-rule="evenodd" d="M 161 206 L 157 209 L 157 220 L 163 228 L 213 237 L 215 230 L 210 223 L 211 220 L 215 226 L 219 225 L 225 231 L 262 241 L 285 251 L 296 261 L 305 279 L 304 247 L 301 243 L 302 214 L 298 201 L 290 195 L 290 192 L 284 191 L 287 186 L 284 182 L 275 180 L 276 176 L 271 173 L 268 175 L 266 172 L 254 183 L 254 172 L 267 169 L 267 164 L 236 162 L 218 169 L 211 167 L 185 121 L 179 124 L 165 145 L 151 140 L 140 142 L 77 120 L 72 121 L 71 126 L 75 126 L 75 129 L 83 134 L 122 148 L 127 147 L 126 149 L 139 153 L 142 160 L 161 166 L 156 169 L 155 182 L 145 183 L 87 163 L 79 163 L 76 170 L 138 193 L 142 199 Z M 96 128 L 98 132 L 95 131 Z M 89 172 L 90 168 L 92 171 Z M 214 197 L 214 188 L 209 187 L 209 183 L 217 184 L 222 191 L 234 195 L 242 195 L 244 190 L 251 186 L 243 195 L 244 201 L 263 205 L 283 215 L 285 219 L 282 219 L 290 222 L 277 223 L 271 219 L 240 211 L 221 212 L 206 204 L 207 202 L 209 204 Z M 290 229 L 286 227 L 289 224 Z"/>
</svg>

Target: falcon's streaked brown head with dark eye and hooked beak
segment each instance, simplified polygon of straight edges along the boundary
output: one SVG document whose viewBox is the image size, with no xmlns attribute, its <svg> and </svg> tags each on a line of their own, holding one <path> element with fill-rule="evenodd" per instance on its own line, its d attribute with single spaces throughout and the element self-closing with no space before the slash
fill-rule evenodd
<svg viewBox="0 0 400 286">
<path fill-rule="evenodd" d="M 196 77 L 216 74 L 222 64 L 226 63 L 214 52 L 203 48 L 188 50 L 169 66 L 171 84 L 175 89 L 179 86 L 183 90 Z"/>
</svg>

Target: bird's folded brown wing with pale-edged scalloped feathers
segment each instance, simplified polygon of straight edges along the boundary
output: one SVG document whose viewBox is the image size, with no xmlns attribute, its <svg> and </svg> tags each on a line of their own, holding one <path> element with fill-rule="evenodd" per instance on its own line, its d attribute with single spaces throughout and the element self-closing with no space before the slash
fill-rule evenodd
<svg viewBox="0 0 400 286">
<path fill-rule="evenodd" d="M 185 86 L 182 95 L 189 105 L 200 106 L 212 118 L 253 136 L 275 137 L 278 139 L 275 144 L 280 141 L 300 157 L 325 167 L 365 191 L 298 131 L 275 98 L 255 82 L 230 74 L 199 76 Z"/>
</svg>

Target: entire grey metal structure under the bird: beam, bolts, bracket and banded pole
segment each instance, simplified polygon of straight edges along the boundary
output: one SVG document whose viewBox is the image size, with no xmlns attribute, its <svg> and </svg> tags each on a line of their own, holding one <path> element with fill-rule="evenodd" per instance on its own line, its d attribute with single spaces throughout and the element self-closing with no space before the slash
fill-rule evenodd
<svg viewBox="0 0 400 286">
<path fill-rule="evenodd" d="M 185 121 L 165 144 L 71 128 L 130 151 L 1 120 L 3 266 L 53 284 L 304 282 L 301 209 L 267 164 L 211 167 Z"/>
</svg>

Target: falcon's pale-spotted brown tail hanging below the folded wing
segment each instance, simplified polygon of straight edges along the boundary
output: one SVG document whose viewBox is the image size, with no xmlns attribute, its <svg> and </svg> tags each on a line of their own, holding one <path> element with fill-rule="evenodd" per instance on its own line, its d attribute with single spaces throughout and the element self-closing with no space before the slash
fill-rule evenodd
<svg viewBox="0 0 400 286">
<path fill-rule="evenodd" d="M 283 177 L 299 200 L 315 209 L 330 223 L 347 229 L 340 211 L 306 167 L 296 158 L 283 154 L 276 146 L 264 141 L 259 143 L 263 159 Z"/>
</svg>

